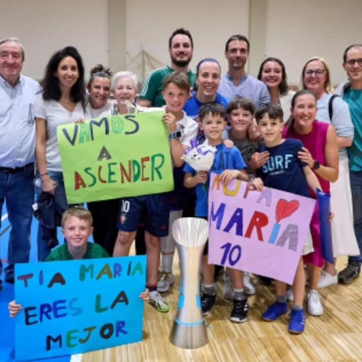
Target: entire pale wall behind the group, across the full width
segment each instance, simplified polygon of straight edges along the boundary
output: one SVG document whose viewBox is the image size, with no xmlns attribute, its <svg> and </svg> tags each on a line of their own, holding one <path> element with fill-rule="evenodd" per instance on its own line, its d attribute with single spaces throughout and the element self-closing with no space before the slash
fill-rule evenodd
<svg viewBox="0 0 362 362">
<path fill-rule="evenodd" d="M 314 55 L 326 58 L 334 84 L 345 78 L 343 50 L 362 42 L 362 0 L 257 1 L 265 10 L 265 23 L 259 24 L 260 32 L 265 32 L 265 49 L 252 44 L 251 53 L 254 49 L 255 54 L 280 57 L 290 85 L 298 84 L 302 65 Z M 126 8 L 126 17 L 119 17 L 119 21 L 126 18 L 126 31 L 114 31 L 126 39 L 122 64 L 139 76 L 142 59 L 135 57 L 142 47 L 159 61 L 155 65 L 169 64 L 168 37 L 177 27 L 184 26 L 193 35 L 192 69 L 201 58 L 213 56 L 223 73 L 227 38 L 249 35 L 249 0 L 0 0 L 0 38 L 20 38 L 26 57 L 23 73 L 36 79 L 42 78 L 50 54 L 66 45 L 78 48 L 88 72 L 97 63 L 109 64 L 108 11 L 114 2 L 123 2 Z M 146 62 L 143 72 L 149 70 Z"/>
</svg>

